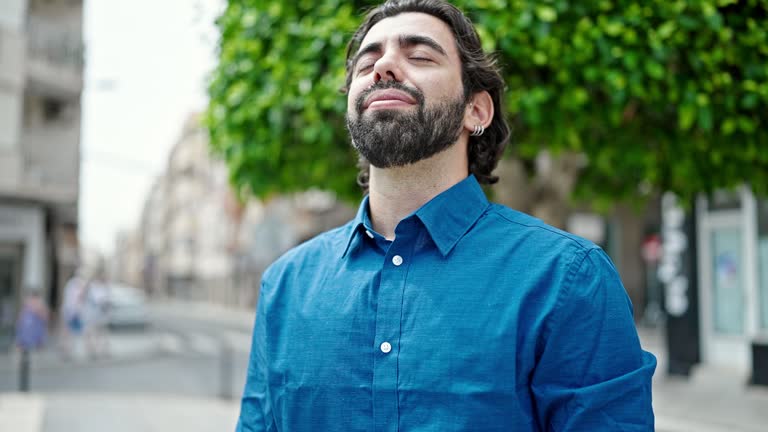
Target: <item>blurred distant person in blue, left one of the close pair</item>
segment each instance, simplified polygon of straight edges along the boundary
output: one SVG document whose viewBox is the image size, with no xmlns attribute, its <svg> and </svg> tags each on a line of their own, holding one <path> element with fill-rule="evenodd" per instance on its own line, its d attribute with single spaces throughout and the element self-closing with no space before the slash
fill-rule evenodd
<svg viewBox="0 0 768 432">
<path fill-rule="evenodd" d="M 71 358 L 77 350 L 77 341 L 83 332 L 83 304 L 87 280 L 83 270 L 78 269 L 64 285 L 61 303 L 61 341 L 65 358 Z"/>
</svg>

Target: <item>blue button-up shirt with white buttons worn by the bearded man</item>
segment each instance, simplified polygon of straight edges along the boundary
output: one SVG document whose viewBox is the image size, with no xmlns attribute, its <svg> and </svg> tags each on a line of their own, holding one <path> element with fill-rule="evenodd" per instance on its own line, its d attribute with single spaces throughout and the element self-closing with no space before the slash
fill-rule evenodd
<svg viewBox="0 0 768 432">
<path fill-rule="evenodd" d="M 367 199 L 264 274 L 238 431 L 652 431 L 656 360 L 594 244 L 473 176 L 388 242 Z"/>
</svg>

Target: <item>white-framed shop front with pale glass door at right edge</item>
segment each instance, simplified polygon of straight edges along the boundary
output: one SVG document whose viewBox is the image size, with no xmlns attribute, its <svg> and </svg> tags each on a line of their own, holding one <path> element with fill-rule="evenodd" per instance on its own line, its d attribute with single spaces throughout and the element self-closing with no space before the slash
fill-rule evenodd
<svg viewBox="0 0 768 432">
<path fill-rule="evenodd" d="M 768 332 L 768 201 L 743 188 L 701 198 L 696 212 L 702 360 L 747 371 Z"/>
</svg>

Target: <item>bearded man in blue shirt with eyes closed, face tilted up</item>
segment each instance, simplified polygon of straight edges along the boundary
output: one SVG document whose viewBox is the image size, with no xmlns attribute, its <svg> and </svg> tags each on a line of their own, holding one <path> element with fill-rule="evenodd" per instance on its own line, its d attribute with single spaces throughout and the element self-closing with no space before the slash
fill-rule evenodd
<svg viewBox="0 0 768 432">
<path fill-rule="evenodd" d="M 238 430 L 653 430 L 655 359 L 610 260 L 478 184 L 509 131 L 472 24 L 388 1 L 347 58 L 369 193 L 265 272 Z"/>
</svg>

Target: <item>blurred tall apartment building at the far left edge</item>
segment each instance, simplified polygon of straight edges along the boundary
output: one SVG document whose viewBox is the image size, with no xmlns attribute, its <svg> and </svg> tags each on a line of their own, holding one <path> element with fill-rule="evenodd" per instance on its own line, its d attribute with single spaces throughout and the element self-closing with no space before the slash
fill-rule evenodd
<svg viewBox="0 0 768 432">
<path fill-rule="evenodd" d="M 73 0 L 0 14 L 0 348 L 24 293 L 56 308 L 78 261 L 82 15 Z"/>
</svg>

